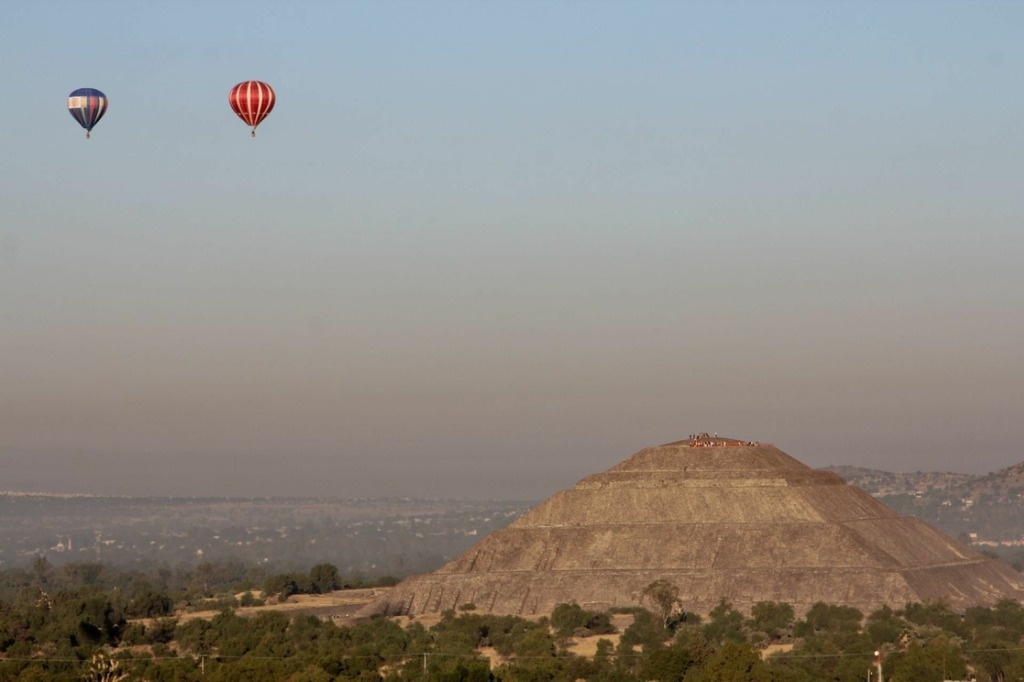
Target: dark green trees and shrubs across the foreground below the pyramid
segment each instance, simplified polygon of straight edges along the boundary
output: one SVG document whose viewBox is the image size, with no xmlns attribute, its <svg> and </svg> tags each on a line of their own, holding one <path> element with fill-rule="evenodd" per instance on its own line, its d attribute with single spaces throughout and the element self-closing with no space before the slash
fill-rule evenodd
<svg viewBox="0 0 1024 682">
<path fill-rule="evenodd" d="M 785 603 L 742 613 L 722 599 L 700 616 L 671 583 L 655 581 L 641 603 L 611 611 L 565 603 L 523 619 L 467 603 L 436 622 L 339 625 L 236 610 L 240 593 L 265 599 L 276 588 L 280 599 L 354 582 L 333 565 L 262 576 L 259 585 L 239 573 L 197 567 L 179 577 L 182 589 L 167 590 L 160 576 L 99 564 L 56 570 L 37 561 L 0 572 L 0 679 L 856 682 L 874 669 L 876 652 L 892 682 L 1024 678 L 1024 607 L 1012 600 L 964 612 L 909 603 L 866 614 L 818 603 L 798 617 Z M 219 604 L 213 617 L 182 617 L 189 604 L 211 601 Z M 581 640 L 596 642 L 593 655 L 572 652 Z"/>
</svg>

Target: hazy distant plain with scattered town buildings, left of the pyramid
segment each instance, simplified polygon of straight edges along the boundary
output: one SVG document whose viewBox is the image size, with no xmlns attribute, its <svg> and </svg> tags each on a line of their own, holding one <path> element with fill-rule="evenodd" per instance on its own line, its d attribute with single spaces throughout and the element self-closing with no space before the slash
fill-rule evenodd
<svg viewBox="0 0 1024 682">
<path fill-rule="evenodd" d="M 534 502 L 125 498 L 0 493 L 0 569 L 36 557 L 120 568 L 237 560 L 268 571 L 330 561 L 345 576 L 429 571 Z"/>
</svg>

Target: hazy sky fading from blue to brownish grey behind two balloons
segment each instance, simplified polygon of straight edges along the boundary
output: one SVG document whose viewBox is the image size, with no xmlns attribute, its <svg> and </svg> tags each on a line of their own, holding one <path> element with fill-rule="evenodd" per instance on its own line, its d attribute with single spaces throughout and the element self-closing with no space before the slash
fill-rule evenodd
<svg viewBox="0 0 1024 682">
<path fill-rule="evenodd" d="M 694 431 L 1020 462 L 1022 35 L 1019 2 L 7 0 L 0 489 L 540 499 Z"/>
</svg>

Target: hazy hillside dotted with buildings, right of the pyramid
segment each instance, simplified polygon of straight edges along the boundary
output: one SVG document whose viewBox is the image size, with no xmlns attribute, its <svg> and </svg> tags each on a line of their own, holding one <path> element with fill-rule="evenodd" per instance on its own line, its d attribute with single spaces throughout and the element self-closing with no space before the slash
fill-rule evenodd
<svg viewBox="0 0 1024 682">
<path fill-rule="evenodd" d="M 987 474 L 894 473 L 824 467 L 900 514 L 949 536 L 991 547 L 1024 548 L 1024 462 Z"/>
</svg>

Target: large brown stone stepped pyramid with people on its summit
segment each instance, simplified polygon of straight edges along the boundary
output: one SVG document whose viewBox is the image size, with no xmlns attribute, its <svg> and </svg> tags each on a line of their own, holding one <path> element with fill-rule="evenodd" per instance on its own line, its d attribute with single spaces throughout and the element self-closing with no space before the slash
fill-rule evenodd
<svg viewBox="0 0 1024 682">
<path fill-rule="evenodd" d="M 722 597 L 750 612 L 781 601 L 855 606 L 943 600 L 955 609 L 1024 596 L 1024 580 L 836 474 L 767 444 L 699 434 L 647 447 L 493 532 L 362 614 L 550 613 L 575 601 L 635 606 L 666 579 L 684 608 Z"/>
</svg>

